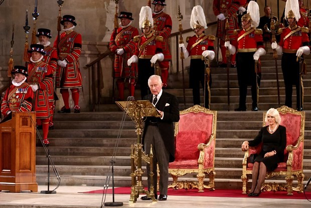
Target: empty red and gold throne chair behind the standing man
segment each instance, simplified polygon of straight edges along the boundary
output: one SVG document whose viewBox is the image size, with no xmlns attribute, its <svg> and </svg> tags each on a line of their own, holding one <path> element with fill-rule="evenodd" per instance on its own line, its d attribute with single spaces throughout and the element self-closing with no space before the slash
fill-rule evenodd
<svg viewBox="0 0 311 208">
<path fill-rule="evenodd" d="M 180 112 L 180 120 L 175 126 L 175 161 L 169 164 L 169 173 L 174 189 L 204 188 L 215 190 L 214 168 L 217 111 L 195 105 Z M 197 182 L 178 181 L 178 177 L 197 173 Z M 204 184 L 205 174 L 209 184 Z"/>
</svg>

